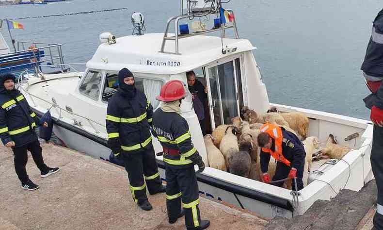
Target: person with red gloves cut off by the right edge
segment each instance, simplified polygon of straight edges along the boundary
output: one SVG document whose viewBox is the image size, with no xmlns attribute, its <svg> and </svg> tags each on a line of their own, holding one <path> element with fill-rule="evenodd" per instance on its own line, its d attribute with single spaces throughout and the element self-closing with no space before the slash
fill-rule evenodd
<svg viewBox="0 0 383 230">
<path fill-rule="evenodd" d="M 361 69 L 371 93 L 364 99 L 371 109 L 374 123 L 371 148 L 371 167 L 378 187 L 377 210 L 374 229 L 383 229 L 383 10 L 372 23 L 372 34 L 367 45 L 366 57 Z"/>
</svg>

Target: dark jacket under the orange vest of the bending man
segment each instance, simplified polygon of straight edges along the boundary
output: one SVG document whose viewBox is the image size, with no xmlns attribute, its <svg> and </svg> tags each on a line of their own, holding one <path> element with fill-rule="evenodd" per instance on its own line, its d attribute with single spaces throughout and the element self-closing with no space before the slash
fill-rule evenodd
<svg viewBox="0 0 383 230">
<path fill-rule="evenodd" d="M 291 167 L 299 169 L 304 166 L 304 158 L 306 157 L 306 152 L 302 142 L 298 139 L 293 133 L 286 131 L 282 128 L 282 154 L 283 156 L 291 163 Z M 272 142 L 271 149 L 274 147 L 274 141 Z M 267 172 L 269 168 L 271 155 L 270 153 L 263 152 L 260 153 L 260 164 L 262 172 Z M 273 161 L 273 159 L 271 159 Z"/>
</svg>

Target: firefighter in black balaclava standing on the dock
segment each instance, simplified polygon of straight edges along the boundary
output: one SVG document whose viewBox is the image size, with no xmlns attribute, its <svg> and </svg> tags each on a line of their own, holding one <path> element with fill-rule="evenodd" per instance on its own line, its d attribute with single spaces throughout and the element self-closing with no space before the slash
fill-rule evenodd
<svg viewBox="0 0 383 230">
<path fill-rule="evenodd" d="M 145 94 L 135 88 L 134 76 L 127 68 L 118 72 L 118 83 L 117 93 L 108 102 L 108 145 L 124 161 L 134 202 L 149 211 L 152 205 L 146 197 L 146 186 L 151 195 L 165 192 L 149 131 L 153 107 Z"/>
</svg>

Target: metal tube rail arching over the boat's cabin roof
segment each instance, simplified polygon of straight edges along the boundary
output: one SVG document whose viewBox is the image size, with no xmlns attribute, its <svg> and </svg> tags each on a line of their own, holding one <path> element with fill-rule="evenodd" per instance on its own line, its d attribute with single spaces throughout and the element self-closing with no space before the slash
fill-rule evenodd
<svg viewBox="0 0 383 230">
<path fill-rule="evenodd" d="M 233 16 L 234 16 L 234 12 L 232 10 L 227 10 L 227 11 L 231 12 L 233 14 Z M 216 12 L 212 12 L 210 14 L 212 14 L 212 15 L 213 14 L 219 14 L 219 8 L 217 9 Z M 168 22 L 166 23 L 166 29 L 165 29 L 165 33 L 164 33 L 163 38 L 162 38 L 162 45 L 161 45 L 160 52 L 161 53 L 170 53 L 170 54 L 180 54 L 179 53 L 179 46 L 178 46 L 179 39 L 186 38 L 186 37 L 191 37 L 191 36 L 196 36 L 196 35 L 201 35 L 201 34 L 206 34 L 206 33 L 218 32 L 218 31 L 222 32 L 222 37 L 224 38 L 225 37 L 225 30 L 230 29 L 230 28 L 233 28 L 234 34 L 235 34 L 235 38 L 239 39 L 239 33 L 238 33 L 238 29 L 237 29 L 237 23 L 236 23 L 235 16 L 233 17 L 232 25 L 221 24 L 221 26 L 218 27 L 218 28 L 211 28 L 211 29 L 207 29 L 205 31 L 192 32 L 192 33 L 189 33 L 189 34 L 179 34 L 179 20 L 184 19 L 184 18 L 188 18 L 188 17 L 198 17 L 198 16 L 206 16 L 206 12 L 194 13 L 194 14 L 183 14 L 183 15 L 179 15 L 179 16 L 170 17 L 168 19 Z M 175 35 L 174 36 L 169 36 L 168 34 L 169 34 L 170 24 L 173 21 L 174 21 L 174 33 L 175 33 Z M 175 50 L 176 50 L 176 52 L 167 52 L 167 51 L 165 51 L 166 42 L 169 41 L 169 40 L 175 42 Z"/>
</svg>

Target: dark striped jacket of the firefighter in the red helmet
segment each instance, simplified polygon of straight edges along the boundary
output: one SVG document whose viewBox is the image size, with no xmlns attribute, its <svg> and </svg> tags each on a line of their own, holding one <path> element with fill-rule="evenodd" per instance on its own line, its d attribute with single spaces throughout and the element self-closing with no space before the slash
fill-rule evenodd
<svg viewBox="0 0 383 230">
<path fill-rule="evenodd" d="M 188 122 L 175 112 L 156 110 L 153 114 L 153 135 L 160 141 L 162 147 L 180 152 L 179 156 L 163 155 L 163 161 L 172 166 L 192 166 L 189 158 L 199 154 L 191 142 Z"/>
</svg>

